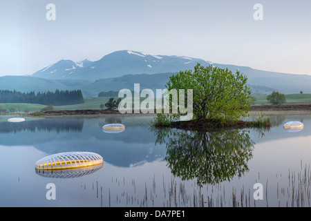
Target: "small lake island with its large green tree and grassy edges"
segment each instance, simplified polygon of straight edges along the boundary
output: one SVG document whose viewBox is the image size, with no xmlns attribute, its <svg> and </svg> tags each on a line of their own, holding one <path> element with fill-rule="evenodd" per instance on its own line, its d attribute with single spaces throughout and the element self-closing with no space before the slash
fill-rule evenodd
<svg viewBox="0 0 311 221">
<path fill-rule="evenodd" d="M 263 114 L 254 122 L 241 120 L 241 117 L 249 116 L 254 100 L 252 90 L 247 86 L 247 77 L 238 70 L 234 74 L 228 69 L 197 64 L 194 72 L 180 71 L 177 75 L 172 75 L 167 83 L 167 89 L 185 92 L 191 90 L 192 99 L 190 102 L 184 101 L 183 105 L 188 108 L 191 105 L 193 117 L 191 120 L 181 121 L 178 117 L 182 116 L 182 113 L 176 115 L 158 113 L 151 121 L 151 126 L 197 131 L 271 126 L 270 119 L 265 118 Z M 169 104 L 178 102 L 177 99 L 173 102 L 173 99 L 174 97 L 169 98 Z M 179 103 L 178 108 L 181 107 Z"/>
</svg>

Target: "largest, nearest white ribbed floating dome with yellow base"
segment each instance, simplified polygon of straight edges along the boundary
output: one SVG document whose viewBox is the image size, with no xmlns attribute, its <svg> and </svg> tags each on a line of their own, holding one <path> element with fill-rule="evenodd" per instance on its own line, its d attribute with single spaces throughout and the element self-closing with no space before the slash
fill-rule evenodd
<svg viewBox="0 0 311 221">
<path fill-rule="evenodd" d="M 64 170 L 77 169 L 86 166 L 102 164 L 103 159 L 97 153 L 66 152 L 50 155 L 38 160 L 35 169 L 38 170 Z"/>
</svg>

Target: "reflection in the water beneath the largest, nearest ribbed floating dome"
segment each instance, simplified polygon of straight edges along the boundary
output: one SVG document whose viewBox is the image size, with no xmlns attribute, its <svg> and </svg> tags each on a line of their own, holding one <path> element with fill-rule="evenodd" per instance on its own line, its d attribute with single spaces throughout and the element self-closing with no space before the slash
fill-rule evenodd
<svg viewBox="0 0 311 221">
<path fill-rule="evenodd" d="M 46 171 L 43 169 L 36 169 L 36 173 L 41 175 L 42 177 L 50 177 L 50 178 L 75 178 L 82 177 L 84 175 L 88 175 L 91 173 L 95 173 L 96 171 L 102 168 L 102 164 L 98 164 L 96 166 L 88 166 L 79 169 L 65 169 L 65 170 L 57 170 L 57 171 Z"/>
</svg>

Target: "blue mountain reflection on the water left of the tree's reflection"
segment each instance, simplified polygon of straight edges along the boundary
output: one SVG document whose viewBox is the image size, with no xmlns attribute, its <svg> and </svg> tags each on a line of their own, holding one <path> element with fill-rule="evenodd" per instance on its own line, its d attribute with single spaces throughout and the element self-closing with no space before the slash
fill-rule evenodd
<svg viewBox="0 0 311 221">
<path fill-rule="evenodd" d="M 150 118 L 152 119 L 152 118 Z M 102 126 L 123 123 L 122 133 L 103 133 Z M 165 146 L 154 146 L 156 138 L 147 117 L 53 117 L 19 124 L 0 122 L 0 145 L 33 146 L 45 155 L 72 151 L 100 154 L 104 162 L 131 167 L 162 160 Z"/>
</svg>

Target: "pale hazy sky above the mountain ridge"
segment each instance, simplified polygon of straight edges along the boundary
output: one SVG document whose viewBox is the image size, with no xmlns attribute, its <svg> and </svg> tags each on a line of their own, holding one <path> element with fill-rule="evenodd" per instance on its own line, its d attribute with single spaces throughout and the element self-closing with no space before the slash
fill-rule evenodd
<svg viewBox="0 0 311 221">
<path fill-rule="evenodd" d="M 253 17 L 256 3 L 263 21 Z M 311 1 L 0 0 L 0 75 L 115 50 L 311 75 Z"/>
</svg>

